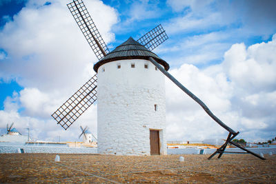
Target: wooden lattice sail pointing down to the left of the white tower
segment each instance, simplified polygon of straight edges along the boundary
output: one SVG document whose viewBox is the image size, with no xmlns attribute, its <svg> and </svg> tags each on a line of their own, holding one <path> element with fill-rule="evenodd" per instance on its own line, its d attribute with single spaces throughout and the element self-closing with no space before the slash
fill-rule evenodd
<svg viewBox="0 0 276 184">
<path fill-rule="evenodd" d="M 86 82 L 68 101 L 63 103 L 59 109 L 52 114 L 52 117 L 65 130 L 76 121 L 90 105 L 97 100 L 97 74 Z"/>
</svg>

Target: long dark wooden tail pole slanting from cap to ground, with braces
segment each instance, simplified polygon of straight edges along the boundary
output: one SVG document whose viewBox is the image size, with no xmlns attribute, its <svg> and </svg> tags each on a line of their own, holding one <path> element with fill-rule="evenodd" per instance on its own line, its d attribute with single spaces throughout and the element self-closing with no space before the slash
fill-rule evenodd
<svg viewBox="0 0 276 184">
<path fill-rule="evenodd" d="M 224 150 L 226 149 L 226 146 L 228 145 L 228 143 L 235 145 L 236 147 L 241 148 L 242 150 L 253 154 L 254 156 L 257 156 L 259 159 L 265 160 L 262 156 L 259 156 L 258 154 L 255 154 L 253 152 L 251 152 L 250 150 L 247 150 L 244 147 L 241 147 L 240 145 L 238 145 L 237 143 L 234 143 L 232 140 L 235 138 L 235 136 L 237 136 L 237 134 L 239 134 L 239 132 L 235 132 L 234 130 L 232 130 L 230 127 L 228 127 L 226 124 L 224 124 L 222 121 L 220 121 L 220 119 L 217 118 L 217 116 L 215 116 L 215 114 L 213 114 L 213 112 L 211 112 L 209 110 L 209 108 L 203 103 L 203 101 L 201 101 L 199 98 L 197 98 L 197 96 L 195 96 L 195 94 L 193 94 L 192 92 L 190 92 L 187 88 L 184 87 L 184 85 L 182 85 L 181 83 L 179 83 L 179 81 L 177 81 L 177 79 L 175 79 L 175 77 L 173 77 L 169 72 L 167 72 L 161 65 L 159 65 L 159 63 L 157 63 L 157 61 L 155 61 L 155 59 L 153 59 L 152 57 L 149 57 L 150 62 L 155 65 L 164 75 L 166 75 L 168 77 L 168 79 L 170 79 L 170 81 L 172 81 L 173 83 L 175 83 L 175 85 L 177 85 L 182 91 L 184 91 L 186 94 L 188 94 L 188 96 L 190 96 L 192 99 L 194 99 L 200 106 L 201 108 L 203 108 L 205 110 L 205 112 L 213 119 L 215 120 L 219 125 L 221 125 L 221 127 L 224 127 L 225 130 L 227 130 L 229 132 L 228 134 L 228 138 L 226 139 L 226 142 L 224 143 L 224 145 L 221 145 L 221 147 L 219 147 L 217 149 L 217 151 L 215 151 L 208 159 L 211 159 L 213 156 L 215 156 L 215 154 L 219 153 L 218 159 L 221 157 L 222 154 L 224 154 Z"/>
</svg>

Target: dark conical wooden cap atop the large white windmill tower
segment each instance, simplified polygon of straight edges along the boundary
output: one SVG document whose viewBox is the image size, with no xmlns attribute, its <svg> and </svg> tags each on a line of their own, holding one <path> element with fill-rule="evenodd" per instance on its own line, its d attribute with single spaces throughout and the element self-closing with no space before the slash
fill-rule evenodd
<svg viewBox="0 0 276 184">
<path fill-rule="evenodd" d="M 168 71 L 170 68 L 170 65 L 163 59 L 159 58 L 157 54 L 151 52 L 147 48 L 144 47 L 144 45 L 141 45 L 132 37 L 130 37 L 127 41 L 124 43 L 121 43 L 121 45 L 117 46 L 115 50 L 112 50 L 112 52 L 109 52 L 106 54 L 106 57 L 103 57 L 100 61 L 98 61 L 93 69 L 95 72 L 98 72 L 98 69 L 101 65 L 105 63 L 109 63 L 112 61 L 118 61 L 122 59 L 146 59 L 149 60 L 149 57 L 154 58 L 157 63 L 164 66 L 165 70 Z"/>
</svg>

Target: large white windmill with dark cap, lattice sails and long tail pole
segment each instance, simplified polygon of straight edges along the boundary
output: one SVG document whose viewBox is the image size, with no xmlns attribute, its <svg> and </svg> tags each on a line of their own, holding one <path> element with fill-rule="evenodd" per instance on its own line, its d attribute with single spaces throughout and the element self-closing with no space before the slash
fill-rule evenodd
<svg viewBox="0 0 276 184">
<path fill-rule="evenodd" d="M 137 41 L 130 37 L 109 52 L 83 1 L 75 0 L 67 6 L 99 61 L 94 65 L 96 74 L 52 114 L 65 130 L 98 99 L 100 154 L 166 154 L 164 76 L 167 76 L 229 132 L 226 143 L 209 159 L 215 154 L 220 158 L 228 143 L 240 147 L 232 141 L 239 132 L 221 122 L 197 96 L 167 72 L 168 63 L 151 52 L 168 39 L 161 25 Z"/>
</svg>

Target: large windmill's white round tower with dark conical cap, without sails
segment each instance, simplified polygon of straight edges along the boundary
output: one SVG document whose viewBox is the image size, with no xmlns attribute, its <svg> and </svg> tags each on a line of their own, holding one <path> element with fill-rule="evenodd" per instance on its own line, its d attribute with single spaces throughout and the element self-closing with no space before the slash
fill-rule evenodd
<svg viewBox="0 0 276 184">
<path fill-rule="evenodd" d="M 131 37 L 95 64 L 99 154 L 166 154 L 165 81 Z"/>
</svg>

